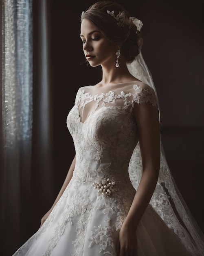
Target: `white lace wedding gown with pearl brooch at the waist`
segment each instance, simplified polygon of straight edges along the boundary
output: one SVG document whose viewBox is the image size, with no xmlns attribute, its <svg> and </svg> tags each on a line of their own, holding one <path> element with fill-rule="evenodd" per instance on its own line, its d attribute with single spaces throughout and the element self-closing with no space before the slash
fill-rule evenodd
<svg viewBox="0 0 204 256">
<path fill-rule="evenodd" d="M 151 87 L 137 82 L 96 88 L 79 89 L 67 118 L 76 150 L 73 177 L 42 227 L 14 256 L 116 256 L 141 169 L 132 110 L 136 104 L 157 107 L 157 98 Z M 189 234 L 175 217 L 170 195 L 158 195 L 160 205 L 154 195 L 152 205 L 160 214 L 149 204 L 136 230 L 138 256 L 204 255 L 197 234 Z"/>
</svg>

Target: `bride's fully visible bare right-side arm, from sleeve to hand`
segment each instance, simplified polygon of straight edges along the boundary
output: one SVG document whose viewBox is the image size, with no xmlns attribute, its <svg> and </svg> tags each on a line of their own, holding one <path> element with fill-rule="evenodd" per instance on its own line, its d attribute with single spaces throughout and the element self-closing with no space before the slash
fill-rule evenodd
<svg viewBox="0 0 204 256">
<path fill-rule="evenodd" d="M 135 103 L 143 174 L 134 200 L 119 234 L 119 255 L 137 255 L 136 228 L 149 204 L 158 180 L 160 168 L 160 123 L 158 107 L 151 103 Z M 130 254 L 129 254 L 130 253 Z"/>
</svg>

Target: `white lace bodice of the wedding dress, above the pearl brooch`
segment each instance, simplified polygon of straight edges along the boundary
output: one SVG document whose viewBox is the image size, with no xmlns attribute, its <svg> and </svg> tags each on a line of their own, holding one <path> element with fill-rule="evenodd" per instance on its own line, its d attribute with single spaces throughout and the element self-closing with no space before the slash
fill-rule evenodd
<svg viewBox="0 0 204 256">
<path fill-rule="evenodd" d="M 141 88 L 121 83 L 112 88 L 98 94 L 94 94 L 94 86 L 80 88 L 67 125 L 76 150 L 75 176 L 81 182 L 114 177 L 119 188 L 119 184 L 129 182 L 129 160 L 138 143 L 136 120 L 132 117 L 134 104 L 150 102 L 156 106 L 157 100 L 148 85 Z M 81 166 L 86 171 L 81 171 Z"/>
</svg>

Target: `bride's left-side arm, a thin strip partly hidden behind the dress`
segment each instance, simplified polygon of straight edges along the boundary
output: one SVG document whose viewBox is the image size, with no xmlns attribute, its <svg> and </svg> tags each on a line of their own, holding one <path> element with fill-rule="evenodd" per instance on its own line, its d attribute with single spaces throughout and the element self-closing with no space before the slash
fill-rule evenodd
<svg viewBox="0 0 204 256">
<path fill-rule="evenodd" d="M 64 193 L 67 185 L 69 184 L 71 178 L 72 178 L 72 175 L 73 175 L 73 171 L 75 169 L 75 161 L 76 161 L 76 156 L 74 157 L 71 165 L 70 165 L 70 168 L 69 168 L 69 171 L 67 173 L 67 176 L 66 176 L 66 179 L 59 191 L 59 194 L 57 195 L 57 198 L 55 199 L 55 202 L 53 203 L 53 206 L 50 208 L 50 210 L 42 217 L 42 220 L 41 220 L 41 224 L 40 224 L 40 227 L 42 226 L 42 224 L 45 222 L 45 220 L 48 218 L 50 212 L 53 210 L 53 208 L 55 207 L 55 204 L 57 204 L 57 202 L 59 201 L 59 198 L 61 198 L 61 195 Z"/>
</svg>

